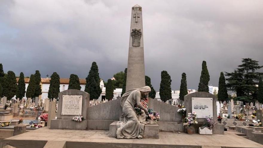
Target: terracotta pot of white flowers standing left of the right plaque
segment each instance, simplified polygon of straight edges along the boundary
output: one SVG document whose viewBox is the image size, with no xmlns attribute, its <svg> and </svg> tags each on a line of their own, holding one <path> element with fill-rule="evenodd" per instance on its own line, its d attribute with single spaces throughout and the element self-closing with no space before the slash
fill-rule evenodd
<svg viewBox="0 0 263 148">
<path fill-rule="evenodd" d="M 186 126 L 188 134 L 194 133 L 193 125 L 197 123 L 198 122 L 196 121 L 196 113 L 195 112 L 193 112 L 192 114 L 188 113 L 187 118 L 185 118 L 185 121 L 184 121 L 184 126 Z"/>
</svg>

